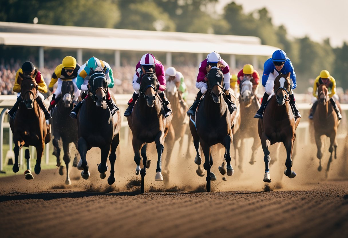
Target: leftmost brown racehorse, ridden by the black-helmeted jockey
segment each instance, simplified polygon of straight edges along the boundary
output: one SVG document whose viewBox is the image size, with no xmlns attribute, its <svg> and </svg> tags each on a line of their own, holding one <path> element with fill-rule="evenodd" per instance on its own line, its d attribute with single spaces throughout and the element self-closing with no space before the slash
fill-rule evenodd
<svg viewBox="0 0 348 238">
<path fill-rule="evenodd" d="M 18 84 L 21 85 L 21 97 L 23 103 L 19 105 L 18 111 L 14 119 L 10 118 L 10 127 L 13 133 L 15 162 L 13 165 L 13 172 L 17 173 L 19 170 L 18 154 L 19 150 L 25 146 L 32 145 L 36 148 L 36 165 L 34 168 L 35 174 L 41 171 L 41 157 L 44 152 L 45 144 L 51 140 L 50 125 L 46 124 L 45 114 L 40 109 L 35 98 L 38 91 L 38 84 L 35 79 L 26 73 L 19 73 L 17 79 Z M 29 149 L 25 150 L 25 158 L 27 159 L 27 170 L 24 172 L 26 179 L 33 179 L 29 166 Z"/>
</svg>

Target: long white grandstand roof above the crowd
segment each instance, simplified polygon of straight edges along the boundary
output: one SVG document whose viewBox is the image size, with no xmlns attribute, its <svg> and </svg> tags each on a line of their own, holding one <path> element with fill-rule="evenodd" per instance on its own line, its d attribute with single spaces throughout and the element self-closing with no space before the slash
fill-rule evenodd
<svg viewBox="0 0 348 238">
<path fill-rule="evenodd" d="M 0 22 L 0 44 L 57 48 L 270 56 L 258 37 Z"/>
</svg>

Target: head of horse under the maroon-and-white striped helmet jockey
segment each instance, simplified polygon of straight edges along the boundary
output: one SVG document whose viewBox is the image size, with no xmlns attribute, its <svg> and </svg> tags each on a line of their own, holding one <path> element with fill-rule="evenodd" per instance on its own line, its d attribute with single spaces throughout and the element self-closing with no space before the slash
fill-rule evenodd
<svg viewBox="0 0 348 238">
<path fill-rule="evenodd" d="M 148 106 L 153 106 L 153 102 L 155 102 L 156 100 L 156 93 L 158 89 L 159 82 L 155 73 L 148 72 L 141 75 L 140 94 L 143 98 L 146 99 Z"/>
</svg>

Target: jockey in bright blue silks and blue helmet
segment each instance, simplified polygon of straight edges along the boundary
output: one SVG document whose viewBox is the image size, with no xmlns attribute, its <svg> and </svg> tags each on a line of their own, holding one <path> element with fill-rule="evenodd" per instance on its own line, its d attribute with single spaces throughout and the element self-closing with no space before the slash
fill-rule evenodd
<svg viewBox="0 0 348 238">
<path fill-rule="evenodd" d="M 293 89 L 296 88 L 296 74 L 294 67 L 283 50 L 279 49 L 274 51 L 272 58 L 269 58 L 263 65 L 263 76 L 262 76 L 262 86 L 266 88 L 266 92 L 263 95 L 262 103 L 260 109 L 256 112 L 254 118 L 262 118 L 263 109 L 266 105 L 267 99 L 272 92 L 274 92 L 274 80 L 279 74 L 290 75 L 291 88 L 289 92 L 290 104 L 294 109 L 295 118 L 301 117 L 299 109 L 297 108 L 296 101 L 294 98 Z"/>
</svg>

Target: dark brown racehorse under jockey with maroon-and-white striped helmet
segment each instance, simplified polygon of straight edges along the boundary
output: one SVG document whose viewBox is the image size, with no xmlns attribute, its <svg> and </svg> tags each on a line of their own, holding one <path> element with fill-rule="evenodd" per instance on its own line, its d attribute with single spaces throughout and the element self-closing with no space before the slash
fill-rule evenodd
<svg viewBox="0 0 348 238">
<path fill-rule="evenodd" d="M 144 193 L 144 177 L 146 169 L 150 168 L 147 160 L 147 143 L 155 142 L 157 150 L 157 168 L 155 180 L 163 181 L 162 153 L 164 139 L 168 133 L 173 114 L 164 118 L 164 111 L 157 93 L 159 82 L 154 73 L 143 73 L 140 81 L 140 96 L 136 101 L 131 116 L 127 117 L 129 128 L 133 135 L 135 174 L 141 175 L 141 193 Z M 170 106 L 170 104 L 168 105 Z M 140 152 L 141 150 L 141 152 Z M 140 169 L 140 154 L 143 158 L 143 168 Z"/>
</svg>

